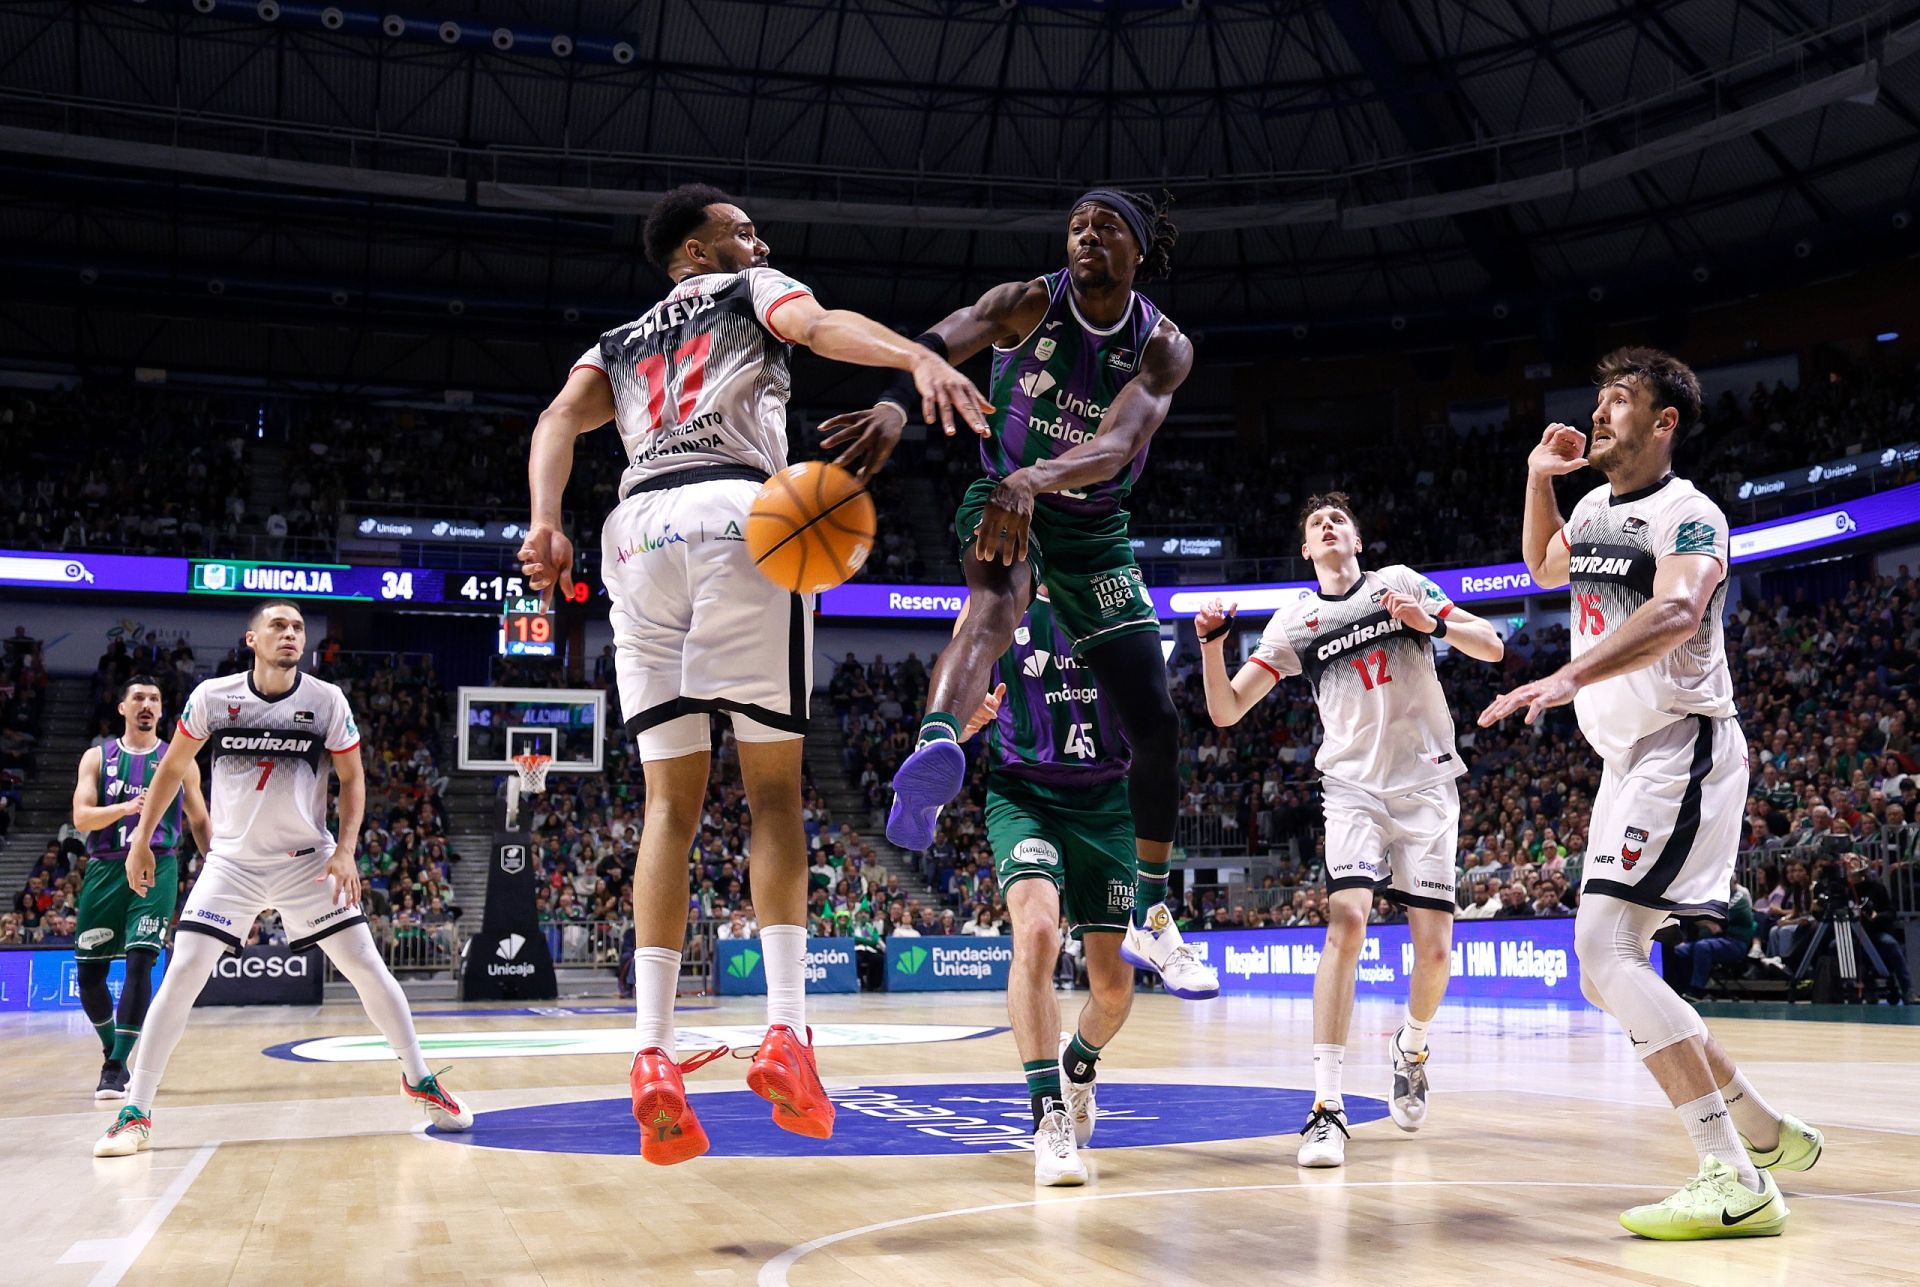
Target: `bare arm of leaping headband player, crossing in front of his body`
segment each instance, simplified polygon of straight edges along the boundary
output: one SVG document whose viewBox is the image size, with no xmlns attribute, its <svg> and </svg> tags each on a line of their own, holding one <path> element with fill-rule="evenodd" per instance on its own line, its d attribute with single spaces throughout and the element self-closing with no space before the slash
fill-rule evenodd
<svg viewBox="0 0 1920 1287">
<path fill-rule="evenodd" d="M 981 563 L 1025 563 L 1033 498 L 1106 482 L 1125 469 L 1165 423 L 1173 392 L 1192 365 L 1192 342 L 1162 317 L 1140 353 L 1140 375 L 1114 398 L 1100 417 L 1100 432 L 1060 455 L 1016 469 L 993 488 L 973 536 L 973 557 Z"/>
</svg>

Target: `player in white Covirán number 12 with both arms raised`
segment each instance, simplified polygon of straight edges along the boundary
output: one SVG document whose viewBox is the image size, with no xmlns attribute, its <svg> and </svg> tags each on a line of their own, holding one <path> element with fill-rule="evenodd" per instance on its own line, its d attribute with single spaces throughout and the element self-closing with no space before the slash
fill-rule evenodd
<svg viewBox="0 0 1920 1287">
<path fill-rule="evenodd" d="M 1225 728 L 1290 674 L 1313 686 L 1325 740 L 1313 757 L 1327 807 L 1327 945 L 1313 976 L 1313 1112 L 1300 1129 L 1300 1166 L 1346 1162 L 1340 1072 L 1354 1022 L 1354 970 L 1367 911 L 1384 893 L 1407 911 L 1413 978 L 1405 1022 L 1390 1039 L 1394 1126 L 1427 1122 L 1427 1028 L 1453 968 L 1453 849 L 1467 772 L 1453 745 L 1434 670 L 1434 640 L 1478 661 L 1500 661 L 1494 626 L 1455 607 L 1409 567 L 1359 567 L 1359 526 L 1344 492 L 1315 496 L 1302 513 L 1300 557 L 1319 590 L 1288 603 L 1260 647 L 1227 678 L 1233 605 L 1194 617 L 1206 709 Z"/>
</svg>

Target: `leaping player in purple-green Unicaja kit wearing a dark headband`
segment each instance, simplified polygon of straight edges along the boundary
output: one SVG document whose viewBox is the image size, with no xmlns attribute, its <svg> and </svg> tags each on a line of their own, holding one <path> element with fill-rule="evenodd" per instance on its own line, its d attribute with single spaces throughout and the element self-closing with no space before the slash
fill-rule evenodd
<svg viewBox="0 0 1920 1287">
<path fill-rule="evenodd" d="M 1165 909 L 1179 716 L 1123 509 L 1192 367 L 1187 336 L 1133 290 L 1167 273 L 1177 229 L 1152 200 L 1096 188 L 1073 202 L 1066 232 L 1064 269 L 995 286 L 918 336 L 956 363 L 993 346 L 995 411 L 981 440 L 987 476 L 954 522 L 972 611 L 933 667 L 920 745 L 893 778 L 887 838 L 902 849 L 933 841 L 966 776 L 960 720 L 1044 580 L 1073 655 L 1092 668 L 1133 749 L 1139 887 L 1123 951 L 1175 995 L 1213 997 L 1217 974 L 1183 951 Z M 897 382 L 872 411 L 828 421 L 826 446 L 847 444 L 849 463 L 885 459 L 910 405 L 912 390 Z"/>
</svg>

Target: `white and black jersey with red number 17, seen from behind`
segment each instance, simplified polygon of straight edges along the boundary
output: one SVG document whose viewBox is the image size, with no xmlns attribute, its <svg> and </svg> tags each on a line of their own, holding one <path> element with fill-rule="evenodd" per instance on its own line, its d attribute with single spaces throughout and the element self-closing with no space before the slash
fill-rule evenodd
<svg viewBox="0 0 1920 1287">
<path fill-rule="evenodd" d="M 776 309 L 812 290 L 776 269 L 689 277 L 574 363 L 612 384 L 620 498 L 682 469 L 787 467 L 791 344 Z"/>
</svg>

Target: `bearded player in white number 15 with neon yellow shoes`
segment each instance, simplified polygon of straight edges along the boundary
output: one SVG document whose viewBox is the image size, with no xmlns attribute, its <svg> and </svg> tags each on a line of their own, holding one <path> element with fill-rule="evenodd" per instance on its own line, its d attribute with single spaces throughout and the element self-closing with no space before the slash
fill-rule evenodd
<svg viewBox="0 0 1920 1287">
<path fill-rule="evenodd" d="M 1672 474 L 1699 423 L 1699 380 L 1676 357 L 1622 348 L 1596 371 L 1594 448 L 1549 425 L 1526 457 L 1523 553 L 1542 590 L 1572 588 L 1572 659 L 1494 699 L 1480 726 L 1574 703 L 1601 759 L 1574 951 L 1580 991 L 1607 1010 L 1680 1112 L 1699 1176 L 1620 1224 L 1644 1237 L 1764 1237 L 1788 1206 L 1770 1168 L 1807 1170 L 1820 1131 L 1776 1114 L 1647 959 L 1670 916 L 1726 920 L 1747 799 L 1720 611 L 1726 515 Z M 1605 482 L 1561 522 L 1553 478 Z"/>
</svg>

